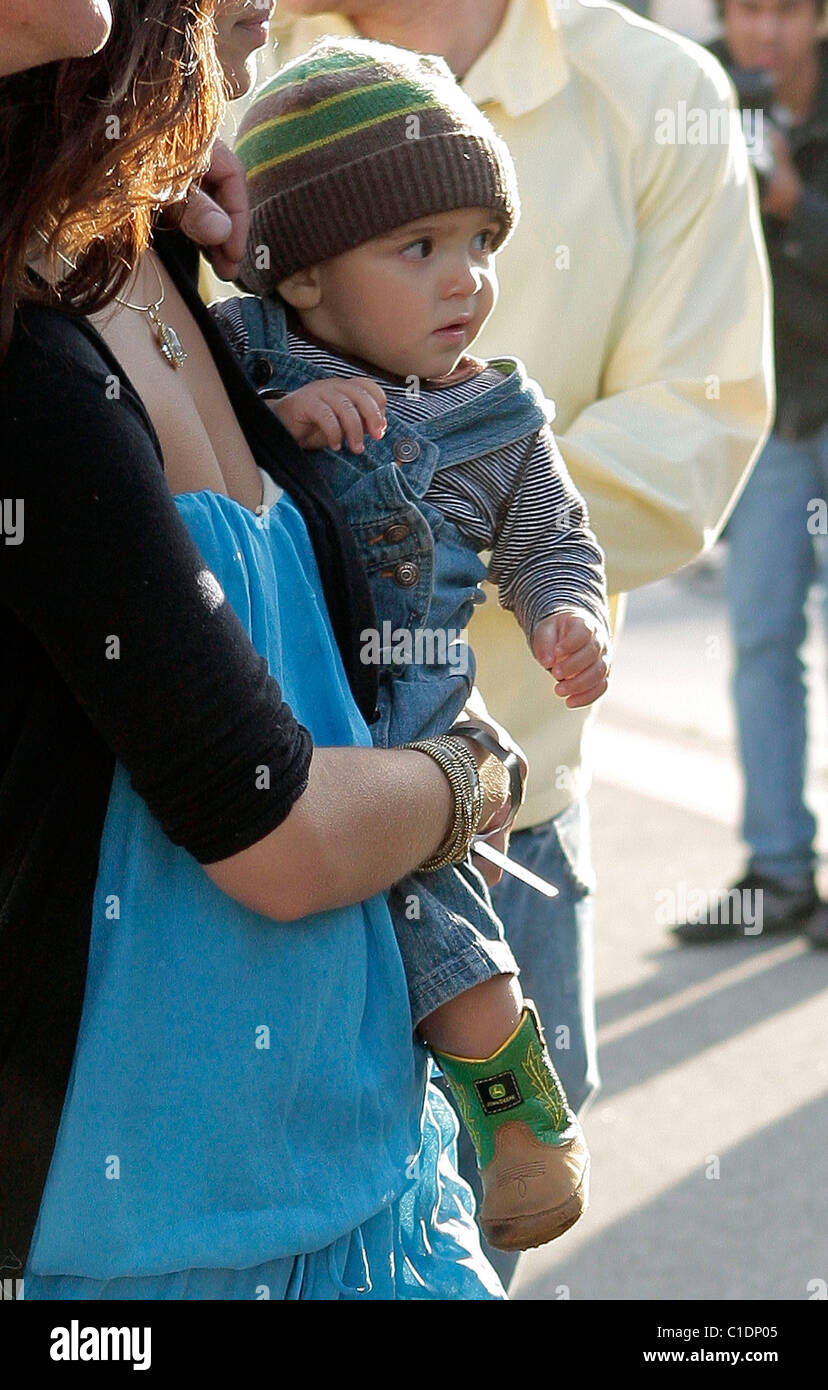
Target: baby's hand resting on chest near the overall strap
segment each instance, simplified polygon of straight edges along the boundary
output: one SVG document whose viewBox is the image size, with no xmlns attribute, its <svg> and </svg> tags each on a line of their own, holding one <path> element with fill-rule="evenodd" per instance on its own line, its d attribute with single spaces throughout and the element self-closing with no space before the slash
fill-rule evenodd
<svg viewBox="0 0 828 1390">
<path fill-rule="evenodd" d="M 385 391 L 370 377 L 310 381 L 268 406 L 303 449 L 340 449 L 345 435 L 353 453 L 364 453 L 363 436 L 382 439 L 388 425 Z"/>
</svg>

